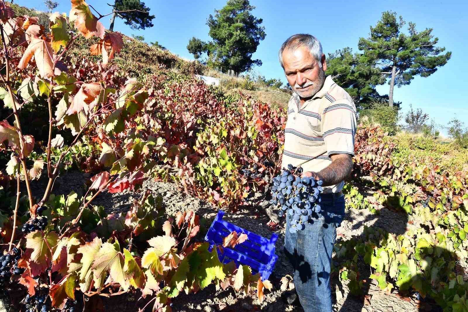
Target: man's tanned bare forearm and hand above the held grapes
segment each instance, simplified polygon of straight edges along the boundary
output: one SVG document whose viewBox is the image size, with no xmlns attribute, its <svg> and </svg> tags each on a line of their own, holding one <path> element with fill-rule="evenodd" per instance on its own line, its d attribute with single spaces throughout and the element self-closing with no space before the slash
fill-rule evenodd
<svg viewBox="0 0 468 312">
<path fill-rule="evenodd" d="M 307 171 L 302 176 L 322 180 L 322 186 L 335 185 L 344 181 L 352 171 L 352 155 L 334 154 L 330 158 L 331 163 L 326 168 L 319 172 Z"/>
</svg>

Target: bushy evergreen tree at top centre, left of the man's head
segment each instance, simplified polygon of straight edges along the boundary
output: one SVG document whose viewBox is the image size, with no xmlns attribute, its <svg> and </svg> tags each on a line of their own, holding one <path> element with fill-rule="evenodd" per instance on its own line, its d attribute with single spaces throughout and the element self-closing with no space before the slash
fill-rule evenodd
<svg viewBox="0 0 468 312">
<path fill-rule="evenodd" d="M 262 65 L 261 60 L 252 59 L 252 54 L 266 36 L 265 28 L 260 26 L 263 20 L 250 13 L 254 8 L 249 0 L 228 0 L 226 6 L 215 10 L 214 16 L 210 14 L 206 22 L 213 41 L 205 43 L 192 37 L 187 49 L 195 58 L 206 52 L 209 59 L 215 60 L 217 67 L 237 73 Z"/>
</svg>

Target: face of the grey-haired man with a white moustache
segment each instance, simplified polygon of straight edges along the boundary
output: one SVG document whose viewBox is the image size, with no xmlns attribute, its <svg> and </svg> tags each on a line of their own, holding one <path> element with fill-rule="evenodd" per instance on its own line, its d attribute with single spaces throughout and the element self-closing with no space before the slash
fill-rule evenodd
<svg viewBox="0 0 468 312">
<path fill-rule="evenodd" d="M 291 88 L 302 98 L 313 97 L 322 89 L 327 63 L 322 54 L 322 68 L 305 46 L 283 52 L 283 66 Z"/>
</svg>

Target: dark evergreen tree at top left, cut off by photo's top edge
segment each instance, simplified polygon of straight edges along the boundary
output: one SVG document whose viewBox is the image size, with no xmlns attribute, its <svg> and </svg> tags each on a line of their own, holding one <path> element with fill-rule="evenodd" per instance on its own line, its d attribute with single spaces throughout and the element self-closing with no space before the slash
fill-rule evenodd
<svg viewBox="0 0 468 312">
<path fill-rule="evenodd" d="M 151 22 L 154 15 L 149 15 L 149 7 L 145 6 L 145 2 L 140 0 L 115 0 L 112 9 L 112 18 L 110 19 L 110 31 L 114 31 L 114 22 L 116 16 L 125 20 L 124 24 L 129 25 L 132 29 L 145 29 L 153 27 Z"/>
</svg>

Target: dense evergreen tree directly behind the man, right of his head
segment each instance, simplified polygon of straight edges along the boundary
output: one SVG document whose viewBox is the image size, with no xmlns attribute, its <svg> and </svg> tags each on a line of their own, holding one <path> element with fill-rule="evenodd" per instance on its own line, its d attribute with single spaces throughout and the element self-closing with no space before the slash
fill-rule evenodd
<svg viewBox="0 0 468 312">
<path fill-rule="evenodd" d="M 362 107 L 368 106 L 371 99 L 380 98 L 375 86 L 385 83 L 385 77 L 362 53 L 353 53 L 350 47 L 329 53 L 327 75 Z"/>
</svg>

